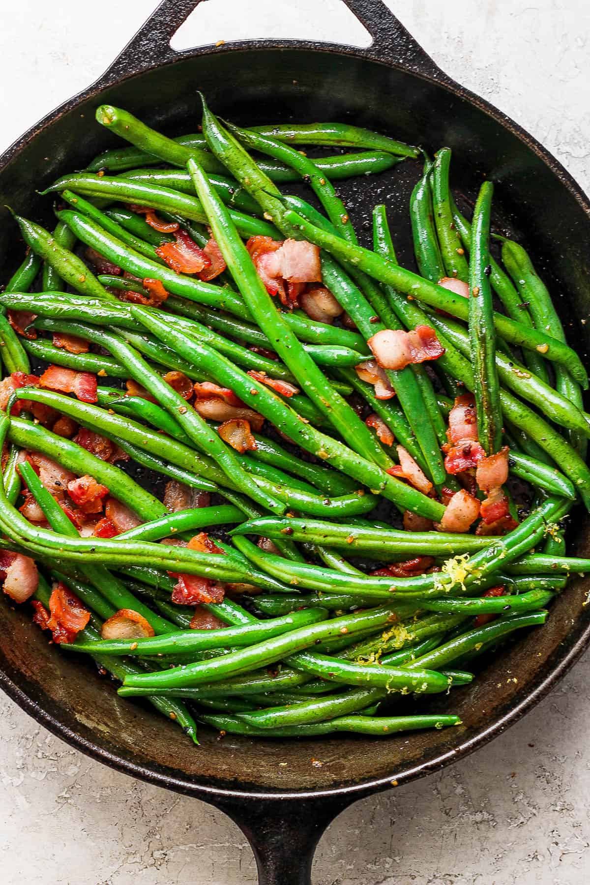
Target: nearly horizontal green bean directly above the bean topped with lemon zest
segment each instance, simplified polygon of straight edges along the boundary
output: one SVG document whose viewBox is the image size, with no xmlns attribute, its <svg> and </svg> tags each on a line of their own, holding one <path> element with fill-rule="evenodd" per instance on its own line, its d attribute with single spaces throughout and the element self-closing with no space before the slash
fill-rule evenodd
<svg viewBox="0 0 590 885">
<path fill-rule="evenodd" d="M 455 556 L 483 550 L 494 538 L 443 532 L 405 532 L 395 528 L 377 529 L 341 525 L 320 519 L 260 517 L 249 519 L 234 528 L 231 535 L 287 536 L 292 541 L 310 541 L 351 552 L 372 551 L 383 558 L 416 556 Z"/>
</svg>

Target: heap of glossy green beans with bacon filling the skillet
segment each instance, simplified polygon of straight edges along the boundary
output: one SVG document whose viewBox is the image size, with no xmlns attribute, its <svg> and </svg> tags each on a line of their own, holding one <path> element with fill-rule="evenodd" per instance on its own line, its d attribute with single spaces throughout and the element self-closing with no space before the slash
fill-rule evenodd
<svg viewBox="0 0 590 885">
<path fill-rule="evenodd" d="M 468 684 L 456 667 L 542 625 L 569 573 L 590 571 L 565 555 L 562 525 L 590 509 L 586 370 L 524 247 L 502 238 L 494 258 L 492 183 L 469 221 L 450 150 L 426 158 L 407 222 L 417 272 L 397 262 L 387 205 L 373 250 L 359 244 L 333 181 L 395 175 L 418 148 L 348 124 L 232 127 L 204 100 L 202 134 L 173 140 L 111 105 L 96 119 L 127 145 L 49 189 L 53 232 L 15 216 L 27 255 L 0 296 L 6 594 L 32 597 L 63 651 L 195 743 L 195 720 L 283 739 L 460 725 L 419 696 Z M 285 277 L 290 304 L 269 295 L 257 244 L 285 240 L 318 257 L 326 321 L 302 296 L 317 271 Z M 183 269 L 187 254 L 205 271 L 217 256 L 220 273 Z M 436 362 L 414 358 L 418 327 Z M 410 348 L 407 365 L 383 363 L 379 335 Z M 91 393 L 71 396 L 80 379 Z M 471 409 L 459 442 L 477 457 L 458 472 L 445 391 Z M 164 501 L 118 452 L 172 481 Z M 508 480 L 489 489 L 477 478 L 494 458 Z M 76 478 L 100 493 L 80 499 Z M 503 521 L 485 517 L 493 493 Z M 458 530 L 448 514 L 465 496 L 482 519 Z M 125 525 L 109 517 L 121 504 Z"/>
</svg>

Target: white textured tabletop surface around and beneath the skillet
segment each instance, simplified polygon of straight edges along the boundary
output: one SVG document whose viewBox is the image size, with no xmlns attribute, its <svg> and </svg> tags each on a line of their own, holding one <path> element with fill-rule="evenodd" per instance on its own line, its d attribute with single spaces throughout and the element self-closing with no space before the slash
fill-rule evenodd
<svg viewBox="0 0 590 885">
<path fill-rule="evenodd" d="M 19 0 L 4 9 L 0 148 L 95 79 L 155 5 Z M 586 0 L 388 5 L 444 70 L 522 123 L 590 189 Z M 366 42 L 338 0 L 211 0 L 179 40 L 263 34 Z M 344 812 L 319 845 L 315 885 L 586 883 L 589 684 L 586 656 L 475 756 Z M 0 741 L 6 885 L 256 881 L 249 847 L 223 815 L 99 766 L 4 696 Z"/>
</svg>

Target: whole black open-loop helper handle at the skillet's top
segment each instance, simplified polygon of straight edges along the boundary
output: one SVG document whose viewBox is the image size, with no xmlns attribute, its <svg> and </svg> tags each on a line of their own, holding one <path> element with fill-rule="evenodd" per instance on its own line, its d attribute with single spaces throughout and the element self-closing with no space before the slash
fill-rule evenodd
<svg viewBox="0 0 590 885">
<path fill-rule="evenodd" d="M 103 73 L 97 85 L 106 87 L 126 77 L 142 73 L 159 65 L 166 65 L 183 55 L 192 55 L 195 50 L 177 52 L 172 50 L 170 41 L 180 25 L 204 0 L 162 0 L 157 9 L 149 16 L 137 34 L 127 43 L 125 49 L 115 58 L 111 67 Z M 444 80 L 443 74 L 425 51 L 418 45 L 402 23 L 389 12 L 382 0 L 343 0 L 356 18 L 372 36 L 372 44 L 363 50 L 353 50 L 366 58 L 388 64 L 400 65 L 413 73 Z M 211 5 L 214 0 L 210 0 Z M 401 5 L 401 4 L 400 4 Z M 211 9 L 211 12 L 214 12 Z M 265 41 L 268 42 L 268 41 Z M 232 51 L 236 45 L 248 45 L 250 41 L 227 42 L 218 47 L 203 47 L 205 52 Z M 272 40 L 277 46 L 310 45 L 318 48 L 346 50 L 348 47 L 332 43 L 311 43 L 308 41 Z"/>
</svg>

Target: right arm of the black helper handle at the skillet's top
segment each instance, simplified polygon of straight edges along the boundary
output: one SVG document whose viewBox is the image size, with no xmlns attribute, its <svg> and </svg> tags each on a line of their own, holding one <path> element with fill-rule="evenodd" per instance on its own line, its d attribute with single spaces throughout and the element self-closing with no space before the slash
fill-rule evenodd
<svg viewBox="0 0 590 885">
<path fill-rule="evenodd" d="M 364 50 L 365 55 L 437 80 L 446 77 L 383 0 L 344 0 L 344 3 L 372 36 L 373 42 Z"/>
</svg>

